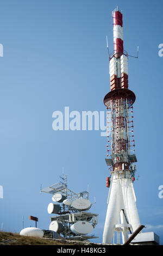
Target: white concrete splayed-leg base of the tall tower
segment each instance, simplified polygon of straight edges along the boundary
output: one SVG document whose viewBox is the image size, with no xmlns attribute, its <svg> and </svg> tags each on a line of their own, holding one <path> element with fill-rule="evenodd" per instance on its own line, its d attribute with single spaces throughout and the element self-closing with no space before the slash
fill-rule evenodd
<svg viewBox="0 0 163 256">
<path fill-rule="evenodd" d="M 124 211 L 127 220 L 124 218 L 124 214 L 121 210 Z M 133 232 L 140 226 L 133 182 L 131 178 L 119 178 L 117 172 L 115 172 L 111 176 L 108 209 L 103 231 L 103 243 L 111 243 L 120 214 L 122 230 L 126 228 L 123 228 L 123 224 L 125 223 Z M 122 239 L 123 242 L 127 239 L 126 232 L 122 233 Z"/>
</svg>

